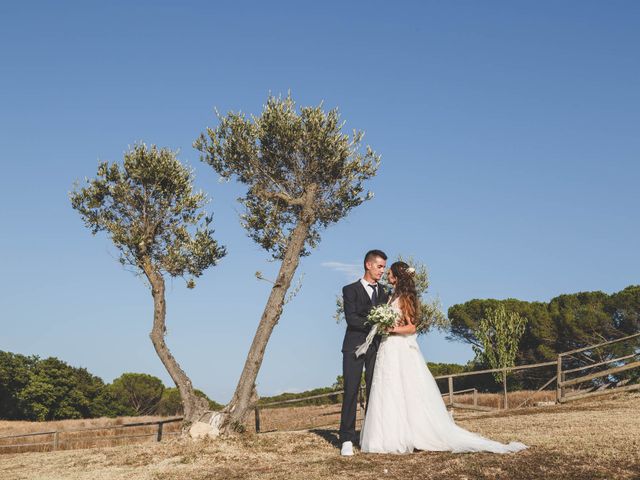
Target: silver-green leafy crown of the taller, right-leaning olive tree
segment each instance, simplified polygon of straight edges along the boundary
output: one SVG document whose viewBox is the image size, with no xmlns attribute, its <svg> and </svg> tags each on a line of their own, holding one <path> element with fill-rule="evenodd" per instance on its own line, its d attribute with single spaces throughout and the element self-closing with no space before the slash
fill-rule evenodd
<svg viewBox="0 0 640 480">
<path fill-rule="evenodd" d="M 337 109 L 325 113 L 319 105 L 298 112 L 290 95 L 270 96 L 259 117 L 230 112 L 218 113 L 218 120 L 194 146 L 223 179 L 236 177 L 247 185 L 239 198 L 246 207 L 242 224 L 274 258 L 283 258 L 310 191 L 310 248 L 318 244 L 321 228 L 372 197 L 363 194 L 363 182 L 376 174 L 380 157 L 368 146 L 362 149 L 363 132 L 342 132 Z"/>
</svg>

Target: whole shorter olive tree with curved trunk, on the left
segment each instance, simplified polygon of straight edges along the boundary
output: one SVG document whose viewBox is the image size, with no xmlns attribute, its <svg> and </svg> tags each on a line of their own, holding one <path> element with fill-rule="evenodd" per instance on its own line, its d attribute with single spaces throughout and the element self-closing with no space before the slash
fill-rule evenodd
<svg viewBox="0 0 640 480">
<path fill-rule="evenodd" d="M 149 282 L 153 297 L 153 346 L 180 391 L 186 425 L 208 405 L 165 342 L 164 276 L 194 279 L 225 255 L 203 210 L 207 196 L 193 190 L 193 173 L 169 149 L 135 145 L 122 166 L 101 162 L 94 179 L 76 185 L 71 205 L 92 234 L 105 231 L 119 250 L 122 265 Z"/>
</svg>

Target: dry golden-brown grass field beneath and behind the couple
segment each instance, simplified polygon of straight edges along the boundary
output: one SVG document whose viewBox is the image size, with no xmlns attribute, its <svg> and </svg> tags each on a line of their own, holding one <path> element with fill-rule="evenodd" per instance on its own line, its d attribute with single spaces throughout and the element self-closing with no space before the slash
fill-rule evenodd
<svg viewBox="0 0 640 480">
<path fill-rule="evenodd" d="M 306 408 L 315 411 L 306 415 L 315 424 L 322 424 L 319 420 L 325 418 L 324 413 L 335 410 L 334 406 Z M 171 437 L 162 443 L 5 454 L 0 455 L 0 478 L 638 479 L 639 411 L 640 394 L 490 414 L 456 411 L 458 423 L 465 428 L 496 440 L 520 440 L 530 446 L 509 455 L 417 452 L 341 458 L 336 429 L 330 427 L 293 433 L 248 433 L 225 440 L 192 442 Z M 282 428 L 285 424 L 294 427 L 296 419 L 305 416 L 300 409 L 272 412 L 270 418 L 264 412 L 265 423 L 279 423 Z M 326 418 L 333 418 L 331 415 Z M 0 424 L 0 434 L 15 431 L 15 425 L 7 423 L 15 422 Z M 36 425 L 42 429 L 42 424 Z M 20 429 L 31 426 L 22 425 Z"/>
</svg>

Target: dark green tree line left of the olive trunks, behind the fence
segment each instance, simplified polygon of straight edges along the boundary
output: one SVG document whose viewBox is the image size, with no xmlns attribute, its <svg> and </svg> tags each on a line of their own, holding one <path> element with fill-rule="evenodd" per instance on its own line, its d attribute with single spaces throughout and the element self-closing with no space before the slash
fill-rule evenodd
<svg viewBox="0 0 640 480">
<path fill-rule="evenodd" d="M 204 398 L 212 410 L 222 405 Z M 138 415 L 180 415 L 177 388 L 166 388 L 157 377 L 124 373 L 105 383 L 85 368 L 49 357 L 0 351 L 0 418 L 63 420 Z"/>
</svg>

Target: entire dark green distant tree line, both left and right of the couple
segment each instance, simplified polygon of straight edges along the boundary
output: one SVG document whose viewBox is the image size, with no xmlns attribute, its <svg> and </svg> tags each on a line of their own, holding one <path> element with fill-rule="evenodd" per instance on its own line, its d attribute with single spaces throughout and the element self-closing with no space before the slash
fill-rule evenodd
<svg viewBox="0 0 640 480">
<path fill-rule="evenodd" d="M 549 302 L 527 302 L 517 299 L 470 300 L 449 308 L 451 339 L 482 347 L 478 326 L 498 308 L 515 312 L 526 319 L 526 327 L 516 354 L 516 365 L 554 360 L 558 352 L 581 348 L 606 340 L 637 333 L 640 328 L 640 286 L 630 286 L 608 295 L 582 292 L 560 295 Z M 611 355 L 637 351 L 638 344 L 615 346 Z M 601 352 L 602 353 L 602 352 Z M 428 362 L 434 376 L 470 372 L 490 368 L 482 356 L 466 365 Z M 510 388 L 537 388 L 549 378 L 549 372 L 519 372 L 509 379 Z M 631 373 L 633 374 L 633 372 Z M 629 375 L 631 375 L 629 374 Z M 442 391 L 446 381 L 438 381 Z M 500 383 L 491 375 L 456 378 L 455 390 L 478 388 L 499 391 Z M 342 377 L 330 387 L 300 393 L 282 393 L 261 397 L 259 404 L 303 398 L 342 389 Z M 212 410 L 222 405 L 207 398 Z M 312 400 L 300 405 L 340 403 L 340 394 Z M 179 415 L 182 413 L 180 392 L 166 388 L 152 375 L 125 373 L 106 384 L 84 368 L 72 367 L 54 358 L 40 359 L 0 351 L 0 418 L 10 420 L 59 420 L 68 418 L 116 417 L 135 415 Z"/>
</svg>

